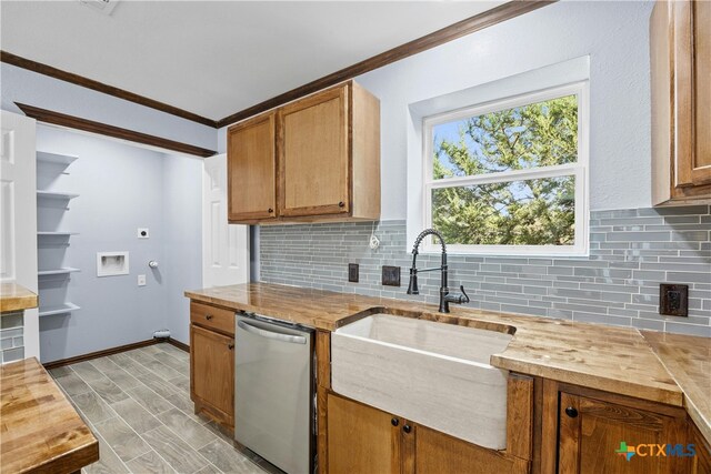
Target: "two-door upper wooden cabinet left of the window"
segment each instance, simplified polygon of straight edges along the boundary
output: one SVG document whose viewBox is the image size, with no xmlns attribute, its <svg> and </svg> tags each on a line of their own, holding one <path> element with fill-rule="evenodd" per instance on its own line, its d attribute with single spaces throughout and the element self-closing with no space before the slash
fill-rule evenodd
<svg viewBox="0 0 711 474">
<path fill-rule="evenodd" d="M 349 81 L 237 123 L 228 173 L 232 223 L 377 220 L 380 102 Z"/>
</svg>

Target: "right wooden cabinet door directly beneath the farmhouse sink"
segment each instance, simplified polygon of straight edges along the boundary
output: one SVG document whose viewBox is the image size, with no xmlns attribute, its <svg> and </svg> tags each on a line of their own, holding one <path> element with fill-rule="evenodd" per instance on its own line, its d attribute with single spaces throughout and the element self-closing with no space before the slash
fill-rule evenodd
<svg viewBox="0 0 711 474">
<path fill-rule="evenodd" d="M 530 468 L 525 460 L 487 450 L 421 425 L 415 431 L 414 456 L 417 474 L 525 474 Z"/>
</svg>

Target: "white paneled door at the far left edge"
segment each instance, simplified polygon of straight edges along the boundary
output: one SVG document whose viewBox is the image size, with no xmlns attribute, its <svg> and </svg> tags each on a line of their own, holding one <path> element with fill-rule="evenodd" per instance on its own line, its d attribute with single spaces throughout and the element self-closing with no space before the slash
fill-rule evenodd
<svg viewBox="0 0 711 474">
<path fill-rule="evenodd" d="M 37 162 L 33 119 L 2 111 L 0 280 L 37 293 Z M 24 312 L 24 356 L 40 356 L 38 310 Z"/>
</svg>

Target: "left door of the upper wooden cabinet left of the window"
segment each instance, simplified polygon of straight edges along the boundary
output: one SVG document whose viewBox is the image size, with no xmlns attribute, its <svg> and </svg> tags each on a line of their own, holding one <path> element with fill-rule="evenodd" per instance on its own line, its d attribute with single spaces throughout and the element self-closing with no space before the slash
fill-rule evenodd
<svg viewBox="0 0 711 474">
<path fill-rule="evenodd" d="M 277 216 L 276 114 L 256 117 L 228 130 L 228 220 Z"/>
</svg>

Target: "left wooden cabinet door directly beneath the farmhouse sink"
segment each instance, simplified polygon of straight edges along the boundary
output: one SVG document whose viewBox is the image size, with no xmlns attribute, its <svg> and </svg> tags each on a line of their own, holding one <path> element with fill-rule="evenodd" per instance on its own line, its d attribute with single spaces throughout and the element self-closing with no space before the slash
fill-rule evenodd
<svg viewBox="0 0 711 474">
<path fill-rule="evenodd" d="M 397 425 L 393 425 L 397 420 Z M 400 474 L 402 420 L 378 409 L 328 395 L 328 471 L 331 474 Z"/>
</svg>

